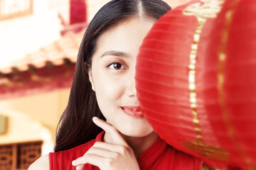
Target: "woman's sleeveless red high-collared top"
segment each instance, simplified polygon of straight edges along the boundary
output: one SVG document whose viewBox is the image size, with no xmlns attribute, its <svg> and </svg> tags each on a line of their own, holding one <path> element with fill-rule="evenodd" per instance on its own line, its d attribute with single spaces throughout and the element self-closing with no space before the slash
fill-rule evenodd
<svg viewBox="0 0 256 170">
<path fill-rule="evenodd" d="M 71 163 L 74 159 L 82 157 L 85 152 L 87 152 L 95 142 L 102 141 L 102 135 L 104 131 L 97 135 L 95 140 L 80 145 L 73 149 L 68 149 L 65 151 L 54 152 L 49 154 L 50 170 L 75 170 L 75 166 Z M 201 160 L 191 157 L 188 154 L 179 152 L 170 145 L 167 145 L 164 140 L 157 140 L 154 142 L 149 149 L 146 149 L 142 153 L 137 161 L 141 170 L 150 169 L 175 169 L 175 170 L 196 170 L 201 169 Z M 91 164 L 86 164 L 84 170 L 98 170 L 97 166 L 92 166 Z"/>
</svg>

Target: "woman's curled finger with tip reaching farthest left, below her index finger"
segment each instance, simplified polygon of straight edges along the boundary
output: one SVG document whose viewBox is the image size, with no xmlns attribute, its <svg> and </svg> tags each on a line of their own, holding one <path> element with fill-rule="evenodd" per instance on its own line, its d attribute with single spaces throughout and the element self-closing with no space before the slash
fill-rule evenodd
<svg viewBox="0 0 256 170">
<path fill-rule="evenodd" d="M 75 159 L 72 162 L 73 166 L 80 166 L 82 164 L 92 164 L 95 166 L 99 166 L 100 162 L 105 159 L 104 157 L 100 157 L 99 155 L 95 154 L 85 154 L 82 157 L 79 157 L 78 159 Z"/>
</svg>

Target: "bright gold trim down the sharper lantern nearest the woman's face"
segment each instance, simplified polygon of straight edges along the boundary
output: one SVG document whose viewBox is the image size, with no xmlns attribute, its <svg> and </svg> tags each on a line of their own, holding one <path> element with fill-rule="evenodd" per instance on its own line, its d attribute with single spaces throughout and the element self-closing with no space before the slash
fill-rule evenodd
<svg viewBox="0 0 256 170">
<path fill-rule="evenodd" d="M 204 4 L 196 3 L 188 6 L 183 10 L 183 14 L 186 16 L 196 16 L 198 26 L 196 33 L 193 35 L 193 44 L 191 45 L 191 54 L 189 56 L 190 62 L 188 65 L 188 88 L 190 90 L 190 103 L 193 115 L 193 125 L 196 131 L 196 141 L 185 141 L 182 143 L 186 149 L 200 154 L 202 157 L 208 157 L 210 159 L 226 160 L 229 156 L 223 148 L 207 145 L 203 142 L 203 135 L 201 133 L 201 127 L 198 120 L 198 112 L 196 106 L 196 60 L 198 52 L 198 42 L 200 35 L 207 18 L 215 18 L 220 12 L 223 1 L 216 0 L 202 0 Z"/>
</svg>

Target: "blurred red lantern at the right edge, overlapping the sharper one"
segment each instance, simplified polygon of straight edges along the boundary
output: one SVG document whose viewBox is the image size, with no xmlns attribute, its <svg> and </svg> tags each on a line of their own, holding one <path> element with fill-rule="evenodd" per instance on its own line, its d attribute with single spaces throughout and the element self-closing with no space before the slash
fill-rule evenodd
<svg viewBox="0 0 256 170">
<path fill-rule="evenodd" d="M 230 164 L 256 169 L 256 1 L 228 0 L 203 61 L 203 101 Z"/>
</svg>

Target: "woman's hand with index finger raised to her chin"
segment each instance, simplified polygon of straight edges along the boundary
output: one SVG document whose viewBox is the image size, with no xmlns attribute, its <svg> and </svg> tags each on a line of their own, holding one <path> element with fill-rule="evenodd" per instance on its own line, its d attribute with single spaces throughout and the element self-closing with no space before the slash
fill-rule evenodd
<svg viewBox="0 0 256 170">
<path fill-rule="evenodd" d="M 99 118 L 92 118 L 93 122 L 110 134 L 114 144 L 95 142 L 82 157 L 75 159 L 72 164 L 82 170 L 85 164 L 98 166 L 101 170 L 139 169 L 139 164 L 131 147 L 122 135 L 112 125 Z"/>
</svg>

